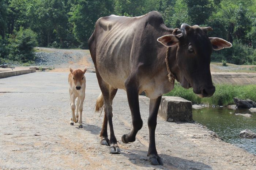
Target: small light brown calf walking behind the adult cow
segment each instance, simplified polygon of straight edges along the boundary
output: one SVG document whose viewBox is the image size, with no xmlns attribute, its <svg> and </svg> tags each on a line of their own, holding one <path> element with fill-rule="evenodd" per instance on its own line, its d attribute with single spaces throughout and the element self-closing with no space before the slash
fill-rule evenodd
<svg viewBox="0 0 256 170">
<path fill-rule="evenodd" d="M 69 68 L 70 73 L 68 75 L 68 83 L 69 83 L 69 95 L 70 95 L 70 106 L 72 110 L 70 125 L 74 125 L 75 123 L 79 123 L 79 128 L 83 128 L 82 122 L 82 112 L 83 112 L 83 101 L 85 97 L 85 86 L 86 80 L 84 73 L 86 72 L 86 68 L 84 70 L 77 69 L 73 71 L 72 68 Z M 77 98 L 76 105 L 75 99 Z M 76 115 L 75 115 L 76 109 Z M 78 114 L 79 112 L 79 114 Z"/>
</svg>

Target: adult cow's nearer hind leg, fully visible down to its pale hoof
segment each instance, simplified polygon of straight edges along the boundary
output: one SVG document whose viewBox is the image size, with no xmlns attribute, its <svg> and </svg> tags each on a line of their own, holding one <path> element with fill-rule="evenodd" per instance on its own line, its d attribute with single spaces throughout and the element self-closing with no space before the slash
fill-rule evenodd
<svg viewBox="0 0 256 170">
<path fill-rule="evenodd" d="M 101 88 L 101 92 L 102 92 L 103 99 L 104 99 L 104 112 L 105 112 L 106 116 L 104 116 L 103 125 L 107 121 L 109 122 L 109 129 L 110 129 L 110 140 L 109 140 L 110 149 L 109 149 L 109 151 L 111 154 L 118 154 L 120 152 L 120 148 L 117 145 L 117 140 L 116 140 L 116 136 L 114 135 L 114 128 L 113 128 L 113 123 L 112 123 L 113 113 L 112 113 L 112 105 L 111 105 L 112 102 L 110 99 L 110 86 L 109 86 L 109 84 L 105 83 L 102 80 L 97 69 L 96 69 L 96 75 L 97 75 L 99 87 Z M 107 120 L 106 120 L 106 118 L 107 118 Z M 104 125 L 104 127 L 106 129 L 106 125 Z M 105 133 L 105 135 L 106 135 L 106 133 Z"/>
</svg>

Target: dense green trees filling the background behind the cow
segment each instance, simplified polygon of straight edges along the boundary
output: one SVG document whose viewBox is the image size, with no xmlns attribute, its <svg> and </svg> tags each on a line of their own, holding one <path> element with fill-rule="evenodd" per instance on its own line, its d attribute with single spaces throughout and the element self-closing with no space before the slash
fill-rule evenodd
<svg viewBox="0 0 256 170">
<path fill-rule="evenodd" d="M 213 61 L 256 64 L 256 0 L 0 0 L 0 58 L 31 59 L 15 56 L 19 49 L 10 52 L 21 28 L 33 31 L 39 46 L 87 49 L 98 18 L 140 16 L 153 10 L 162 14 L 168 27 L 211 26 L 209 36 L 234 44 L 214 52 Z"/>
</svg>

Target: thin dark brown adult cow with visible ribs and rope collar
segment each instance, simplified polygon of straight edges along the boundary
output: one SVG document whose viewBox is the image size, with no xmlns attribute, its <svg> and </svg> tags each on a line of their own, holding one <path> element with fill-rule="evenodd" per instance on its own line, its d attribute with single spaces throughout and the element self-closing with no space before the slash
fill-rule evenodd
<svg viewBox="0 0 256 170">
<path fill-rule="evenodd" d="M 221 38 L 208 37 L 211 27 L 182 24 L 170 29 L 157 11 L 139 17 L 111 15 L 97 20 L 89 49 L 102 95 L 97 109 L 104 105 L 101 144 L 110 146 L 110 153 L 120 149 L 112 124 L 112 101 L 117 89 L 127 92 L 133 129 L 122 136 L 123 143 L 135 141 L 142 128 L 138 95 L 144 91 L 150 98 L 148 156 L 153 165 L 162 165 L 155 147 L 155 128 L 162 94 L 171 91 L 174 80 L 184 88 L 193 88 L 200 97 L 215 92 L 210 73 L 212 50 L 232 45 Z M 110 140 L 107 123 L 109 122 Z"/>
</svg>

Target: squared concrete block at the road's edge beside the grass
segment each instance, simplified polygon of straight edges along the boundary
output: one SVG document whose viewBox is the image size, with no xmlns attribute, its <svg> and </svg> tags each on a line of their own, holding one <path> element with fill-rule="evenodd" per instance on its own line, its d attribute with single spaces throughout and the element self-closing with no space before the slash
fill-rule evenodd
<svg viewBox="0 0 256 170">
<path fill-rule="evenodd" d="M 181 97 L 163 96 L 158 114 L 165 121 L 187 121 L 193 122 L 192 103 Z"/>
</svg>

